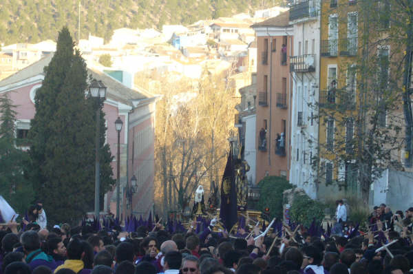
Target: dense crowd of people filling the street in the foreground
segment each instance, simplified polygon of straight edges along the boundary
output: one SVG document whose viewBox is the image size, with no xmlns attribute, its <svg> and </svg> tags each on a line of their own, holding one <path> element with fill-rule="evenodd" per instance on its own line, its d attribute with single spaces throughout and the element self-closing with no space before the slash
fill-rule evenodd
<svg viewBox="0 0 413 274">
<path fill-rule="evenodd" d="M 234 233 L 217 232 L 215 218 L 202 231 L 195 221 L 173 232 L 160 222 L 131 232 L 87 224 L 47 229 L 36 222 L 41 210 L 36 205 L 20 231 L 13 221 L 0 230 L 0 274 L 402 274 L 413 268 L 413 208 L 393 214 L 381 204 L 363 233 L 346 220 L 340 201 L 341 231 L 322 235 L 288 224 L 263 235 L 249 220 Z"/>
</svg>

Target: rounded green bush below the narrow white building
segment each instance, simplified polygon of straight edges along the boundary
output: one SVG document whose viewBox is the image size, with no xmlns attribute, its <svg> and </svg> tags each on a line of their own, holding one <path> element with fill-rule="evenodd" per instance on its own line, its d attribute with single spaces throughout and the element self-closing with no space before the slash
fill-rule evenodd
<svg viewBox="0 0 413 274">
<path fill-rule="evenodd" d="M 290 208 L 290 216 L 293 222 L 308 227 L 314 219 L 319 223 L 324 219 L 324 205 L 311 200 L 307 195 L 295 195 Z"/>
</svg>

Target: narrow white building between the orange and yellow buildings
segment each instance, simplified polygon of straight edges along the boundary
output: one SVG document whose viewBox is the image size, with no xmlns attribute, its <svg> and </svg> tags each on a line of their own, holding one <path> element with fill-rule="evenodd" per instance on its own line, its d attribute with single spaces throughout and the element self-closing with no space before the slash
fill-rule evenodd
<svg viewBox="0 0 413 274">
<path fill-rule="evenodd" d="M 312 159 L 317 156 L 319 98 L 320 1 L 304 1 L 290 8 L 290 24 L 294 25 L 293 103 L 291 115 L 290 183 L 301 187 L 310 198 L 317 198 Z"/>
</svg>

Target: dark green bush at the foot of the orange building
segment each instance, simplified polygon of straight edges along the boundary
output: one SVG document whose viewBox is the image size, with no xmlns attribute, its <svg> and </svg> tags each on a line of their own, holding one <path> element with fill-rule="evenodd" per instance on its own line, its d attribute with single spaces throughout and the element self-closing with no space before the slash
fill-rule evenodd
<svg viewBox="0 0 413 274">
<path fill-rule="evenodd" d="M 270 209 L 270 218 L 282 218 L 282 193 L 286 189 L 292 189 L 288 180 L 284 177 L 266 176 L 258 183 L 260 189 L 260 200 L 257 202 L 257 209 L 264 211 L 266 207 Z"/>
</svg>

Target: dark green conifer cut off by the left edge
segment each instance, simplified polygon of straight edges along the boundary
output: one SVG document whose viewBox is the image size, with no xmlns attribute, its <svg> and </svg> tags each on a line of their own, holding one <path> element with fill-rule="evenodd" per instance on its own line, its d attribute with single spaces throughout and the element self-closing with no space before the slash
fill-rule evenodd
<svg viewBox="0 0 413 274">
<path fill-rule="evenodd" d="M 16 112 L 8 94 L 0 97 L 0 195 L 23 214 L 34 198 L 33 188 L 24 174 L 28 154 L 17 148 Z"/>
</svg>

